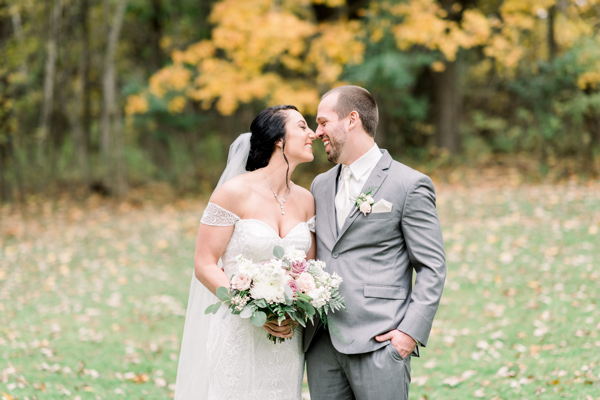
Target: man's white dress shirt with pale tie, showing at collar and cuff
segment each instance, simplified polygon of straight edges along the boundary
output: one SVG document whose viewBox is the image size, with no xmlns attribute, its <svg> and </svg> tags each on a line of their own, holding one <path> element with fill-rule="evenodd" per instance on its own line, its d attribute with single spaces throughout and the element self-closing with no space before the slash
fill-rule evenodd
<svg viewBox="0 0 600 400">
<path fill-rule="evenodd" d="M 352 164 L 342 164 L 342 170 L 338 177 L 338 192 L 335 195 L 335 213 L 337 214 L 338 229 L 341 229 L 341 227 L 344 226 L 344 221 L 346 221 L 346 217 L 350 213 L 350 210 L 353 210 L 355 207 L 352 199 L 361 192 L 365 183 L 367 183 L 369 175 L 371 175 L 371 172 L 373 172 L 373 169 L 382 156 L 382 152 L 379 150 L 379 147 L 377 147 L 377 143 L 375 143 L 373 144 L 373 147 L 371 147 L 371 150 L 362 154 L 362 156 Z M 346 190 L 346 182 L 344 181 L 344 178 L 348 175 L 347 171 L 345 171 L 346 168 L 349 168 L 350 172 L 352 172 L 347 180 L 348 190 Z M 421 346 L 421 343 L 418 340 L 415 338 L 413 339 L 418 346 Z"/>
</svg>

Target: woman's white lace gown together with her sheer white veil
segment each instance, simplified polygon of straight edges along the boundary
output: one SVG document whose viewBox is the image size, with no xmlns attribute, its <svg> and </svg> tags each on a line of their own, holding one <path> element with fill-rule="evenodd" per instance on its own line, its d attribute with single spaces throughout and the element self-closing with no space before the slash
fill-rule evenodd
<svg viewBox="0 0 600 400">
<path fill-rule="evenodd" d="M 217 187 L 245 174 L 251 134 L 245 133 L 229 147 L 227 167 Z M 308 251 L 314 217 L 296 225 L 286 237 L 265 222 L 240 219 L 209 202 L 200 220 L 205 225 L 233 226 L 233 234 L 218 262 L 228 277 L 237 272 L 236 257 L 242 254 L 259 263 L 273 257 L 273 248 L 294 247 Z M 190 296 L 175 381 L 174 400 L 300 400 L 304 376 L 302 327 L 283 343 L 267 339 L 265 328 L 250 319 L 228 315 L 226 307 L 205 314 L 218 299 L 191 274 Z"/>
</svg>

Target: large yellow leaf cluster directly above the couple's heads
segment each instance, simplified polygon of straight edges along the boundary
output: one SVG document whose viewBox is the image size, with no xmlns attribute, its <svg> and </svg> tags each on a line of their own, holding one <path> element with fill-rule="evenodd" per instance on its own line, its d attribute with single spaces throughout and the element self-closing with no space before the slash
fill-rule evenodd
<svg viewBox="0 0 600 400">
<path fill-rule="evenodd" d="M 152 75 L 149 93 L 158 98 L 179 93 L 168 104 L 172 113 L 185 107 L 182 96 L 204 109 L 216 102 L 226 115 L 254 99 L 314 112 L 317 87 L 337 84 L 344 65 L 362 62 L 365 46 L 358 21 L 316 25 L 310 14 L 313 3 L 338 7 L 345 1 L 217 2 L 210 16 L 211 40 L 173 51 L 173 65 Z"/>
</svg>

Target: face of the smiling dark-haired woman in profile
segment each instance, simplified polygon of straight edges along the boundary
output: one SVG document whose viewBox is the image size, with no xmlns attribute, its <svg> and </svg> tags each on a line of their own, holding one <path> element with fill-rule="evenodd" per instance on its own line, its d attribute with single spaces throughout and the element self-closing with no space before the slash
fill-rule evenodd
<svg viewBox="0 0 600 400">
<path fill-rule="evenodd" d="M 287 110 L 286 147 L 287 160 L 293 163 L 309 162 L 314 159 L 313 140 L 317 137 L 302 114 Z"/>
</svg>

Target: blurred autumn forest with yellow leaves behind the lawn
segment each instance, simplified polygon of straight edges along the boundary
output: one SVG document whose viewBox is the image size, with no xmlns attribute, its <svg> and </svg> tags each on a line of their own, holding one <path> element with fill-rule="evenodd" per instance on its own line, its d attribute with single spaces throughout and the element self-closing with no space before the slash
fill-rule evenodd
<svg viewBox="0 0 600 400">
<path fill-rule="evenodd" d="M 257 111 L 311 122 L 346 83 L 425 173 L 593 176 L 599 28 L 598 0 L 0 1 L 0 200 L 209 191 Z M 329 168 L 316 154 L 299 183 Z"/>
</svg>

